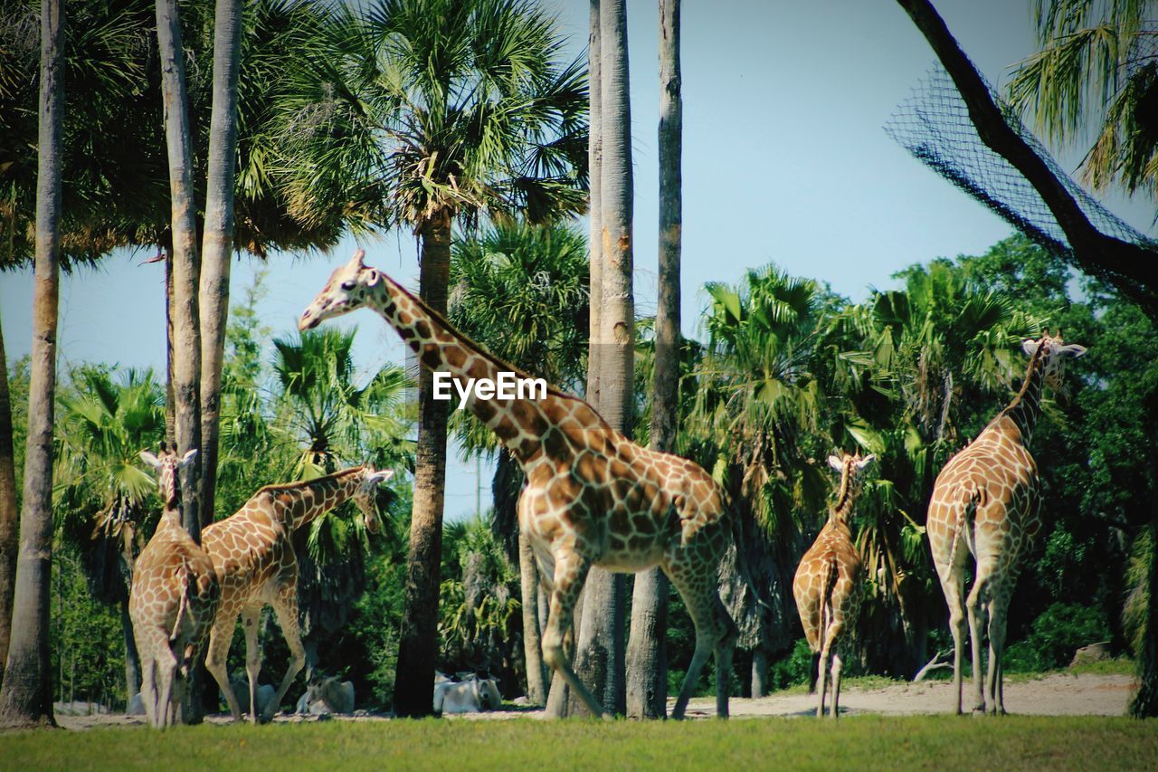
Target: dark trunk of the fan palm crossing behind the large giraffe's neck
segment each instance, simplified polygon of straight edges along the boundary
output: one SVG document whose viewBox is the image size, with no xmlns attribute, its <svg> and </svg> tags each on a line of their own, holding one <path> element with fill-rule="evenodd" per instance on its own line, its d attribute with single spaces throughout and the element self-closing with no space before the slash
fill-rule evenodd
<svg viewBox="0 0 1158 772">
<path fill-rule="evenodd" d="M 431 308 L 445 314 L 450 282 L 450 212 L 444 211 L 424 223 L 419 236 L 419 292 Z M 424 363 L 418 381 L 413 516 L 394 687 L 394 713 L 403 716 L 430 715 L 434 701 L 447 403 L 433 399 L 433 380 L 431 369 Z"/>
</svg>

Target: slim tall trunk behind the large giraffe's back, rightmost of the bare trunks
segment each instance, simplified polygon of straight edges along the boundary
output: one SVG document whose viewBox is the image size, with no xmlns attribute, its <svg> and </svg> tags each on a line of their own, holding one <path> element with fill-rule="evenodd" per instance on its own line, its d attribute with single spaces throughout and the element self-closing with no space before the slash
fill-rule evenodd
<svg viewBox="0 0 1158 772">
<path fill-rule="evenodd" d="M 650 444 L 675 450 L 680 420 L 680 228 L 683 110 L 680 102 L 680 0 L 659 3 L 659 301 Z M 667 715 L 668 581 L 659 568 L 636 576 L 628 646 L 628 715 Z"/>
</svg>

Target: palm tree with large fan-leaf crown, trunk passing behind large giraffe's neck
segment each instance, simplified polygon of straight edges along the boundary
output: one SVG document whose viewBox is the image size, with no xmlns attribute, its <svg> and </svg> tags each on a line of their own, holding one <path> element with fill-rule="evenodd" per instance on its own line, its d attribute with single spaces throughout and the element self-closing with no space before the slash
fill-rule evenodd
<svg viewBox="0 0 1158 772">
<path fill-rule="evenodd" d="M 312 60 L 316 90 L 303 92 L 330 94 L 332 105 L 300 137 L 303 168 L 378 185 L 391 221 L 419 239 L 423 299 L 445 313 L 456 218 L 521 210 L 543 221 L 582 207 L 582 70 L 563 61 L 554 20 L 530 0 L 379 0 L 338 13 L 337 51 Z M 403 715 L 431 712 L 434 676 L 447 418 L 431 385 L 424 367 L 395 694 Z"/>
</svg>

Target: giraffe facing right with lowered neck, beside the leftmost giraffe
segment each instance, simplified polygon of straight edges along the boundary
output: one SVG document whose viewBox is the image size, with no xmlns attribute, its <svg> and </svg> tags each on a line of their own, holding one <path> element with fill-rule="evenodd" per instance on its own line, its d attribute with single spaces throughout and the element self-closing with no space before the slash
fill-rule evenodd
<svg viewBox="0 0 1158 772">
<path fill-rule="evenodd" d="M 249 720 L 254 723 L 273 718 L 281 698 L 306 664 L 298 626 L 298 558 L 293 533 L 316 517 L 353 498 L 366 518 L 366 527 L 376 533 L 379 523 L 374 490 L 393 476 L 356 466 L 305 482 L 265 486 L 235 514 L 201 532 L 201 544 L 221 581 L 221 606 L 210 633 L 205 665 L 213 673 L 234 721 L 241 720 L 237 697 L 229 685 L 226 656 L 233 642 L 234 622 L 241 616 L 245 633 L 245 672 L 249 676 Z M 258 711 L 257 675 L 262 653 L 257 646 L 257 625 L 262 609 L 273 606 L 290 646 L 291 662 L 272 700 Z"/>
</svg>

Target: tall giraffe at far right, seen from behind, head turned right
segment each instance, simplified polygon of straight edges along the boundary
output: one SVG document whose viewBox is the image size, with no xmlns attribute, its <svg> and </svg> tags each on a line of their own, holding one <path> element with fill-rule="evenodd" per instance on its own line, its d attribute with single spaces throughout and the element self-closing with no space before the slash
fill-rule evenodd
<svg viewBox="0 0 1158 772">
<path fill-rule="evenodd" d="M 948 460 L 937 475 L 929 502 L 925 530 L 950 610 L 959 714 L 966 613 L 973 644 L 974 711 L 985 712 L 988 691 L 992 713 L 1005 713 L 1002 695 L 1005 614 L 1020 562 L 1041 530 L 1041 491 L 1029 439 L 1047 381 L 1058 383 L 1064 360 L 1086 351 L 1082 345 L 1063 344 L 1061 333 L 1057 337 L 1045 335 L 1039 341 L 1023 341 L 1021 348 L 1029 356 L 1021 389 L 972 444 Z M 966 598 L 965 565 L 969 553 L 976 567 Z M 981 642 L 987 618 L 989 670 L 983 689 Z"/>
</svg>

